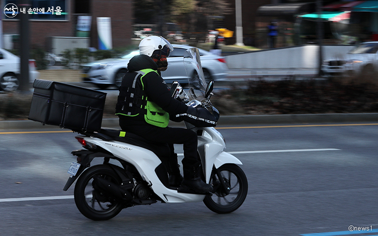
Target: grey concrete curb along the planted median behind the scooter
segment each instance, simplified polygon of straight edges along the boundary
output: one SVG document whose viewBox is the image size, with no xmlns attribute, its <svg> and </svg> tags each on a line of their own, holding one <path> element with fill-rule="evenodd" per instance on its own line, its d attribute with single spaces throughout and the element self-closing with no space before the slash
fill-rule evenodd
<svg viewBox="0 0 378 236">
<path fill-rule="evenodd" d="M 221 116 L 218 125 L 274 125 L 308 123 L 378 122 L 378 113 L 299 114 L 299 115 L 242 115 Z M 171 127 L 185 127 L 183 122 L 170 122 Z M 119 128 L 118 118 L 103 119 L 102 127 Z M 57 129 L 31 120 L 0 121 L 0 130 Z"/>
</svg>

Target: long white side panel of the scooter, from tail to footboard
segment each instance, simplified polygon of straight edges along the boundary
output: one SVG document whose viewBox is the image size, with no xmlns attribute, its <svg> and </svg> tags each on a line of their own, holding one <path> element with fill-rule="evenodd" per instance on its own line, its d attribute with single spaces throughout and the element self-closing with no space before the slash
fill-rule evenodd
<svg viewBox="0 0 378 236">
<path fill-rule="evenodd" d="M 150 150 L 117 141 L 103 141 L 98 138 L 86 137 L 85 140 L 105 149 L 115 157 L 133 164 L 146 182 L 151 184 L 151 189 L 156 195 L 167 203 L 199 202 L 205 197 L 203 194 L 178 193 L 177 190 L 165 187 L 155 172 L 156 167 L 162 162 Z"/>
</svg>

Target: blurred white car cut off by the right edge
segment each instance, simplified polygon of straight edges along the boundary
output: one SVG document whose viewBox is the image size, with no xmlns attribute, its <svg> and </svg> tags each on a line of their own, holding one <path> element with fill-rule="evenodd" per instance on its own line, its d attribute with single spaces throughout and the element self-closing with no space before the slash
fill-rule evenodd
<svg viewBox="0 0 378 236">
<path fill-rule="evenodd" d="M 378 41 L 361 43 L 349 51 L 344 58 L 324 61 L 322 72 L 328 78 L 374 75 L 378 72 Z"/>
</svg>

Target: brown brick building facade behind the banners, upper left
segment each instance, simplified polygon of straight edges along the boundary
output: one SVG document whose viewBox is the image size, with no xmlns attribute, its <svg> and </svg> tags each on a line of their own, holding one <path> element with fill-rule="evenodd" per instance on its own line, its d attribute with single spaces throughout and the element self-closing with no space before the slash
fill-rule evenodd
<svg viewBox="0 0 378 236">
<path fill-rule="evenodd" d="M 10 10 L 7 11 L 7 14 L 1 12 L 1 19 L 4 35 L 19 35 L 19 17 L 17 15 L 12 17 L 11 7 L 13 7 L 13 10 L 15 6 L 18 8 L 16 11 L 18 15 L 28 14 L 31 48 L 40 47 L 49 50 L 48 45 L 51 37 L 75 37 L 79 15 L 92 16 L 90 47 L 98 48 L 97 17 L 111 18 L 113 48 L 123 47 L 131 43 L 132 0 L 28 1 L 30 7 L 26 7 L 24 10 L 19 6 L 19 0 L 1 0 L 1 7 L 4 12 L 6 12 L 5 8 Z M 60 11 L 57 11 L 57 9 L 60 9 Z M 52 14 L 51 10 L 55 12 Z"/>
</svg>

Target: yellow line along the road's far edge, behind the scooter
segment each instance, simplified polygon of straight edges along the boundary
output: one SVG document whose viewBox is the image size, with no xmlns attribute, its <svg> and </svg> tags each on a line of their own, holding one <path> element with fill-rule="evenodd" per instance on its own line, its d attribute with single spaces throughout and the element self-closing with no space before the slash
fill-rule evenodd
<svg viewBox="0 0 378 236">
<path fill-rule="evenodd" d="M 272 125 L 272 126 L 241 126 L 241 127 L 216 127 L 217 130 L 221 129 L 261 129 L 261 128 L 293 128 L 293 127 L 326 127 L 326 126 L 366 126 L 378 125 L 378 123 L 371 124 L 334 124 L 334 125 Z M 70 133 L 68 131 L 19 131 L 19 132 L 0 132 L 1 134 L 46 134 L 46 133 Z"/>
</svg>

